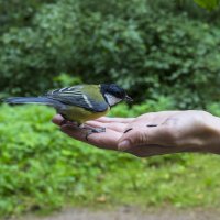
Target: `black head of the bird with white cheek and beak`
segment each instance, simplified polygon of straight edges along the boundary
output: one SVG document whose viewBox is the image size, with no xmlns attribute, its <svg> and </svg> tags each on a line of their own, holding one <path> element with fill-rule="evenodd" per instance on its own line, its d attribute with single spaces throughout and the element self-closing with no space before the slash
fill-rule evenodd
<svg viewBox="0 0 220 220">
<path fill-rule="evenodd" d="M 132 101 L 125 90 L 116 84 L 101 84 L 101 94 L 109 103 L 109 106 L 114 106 L 122 100 Z"/>
</svg>

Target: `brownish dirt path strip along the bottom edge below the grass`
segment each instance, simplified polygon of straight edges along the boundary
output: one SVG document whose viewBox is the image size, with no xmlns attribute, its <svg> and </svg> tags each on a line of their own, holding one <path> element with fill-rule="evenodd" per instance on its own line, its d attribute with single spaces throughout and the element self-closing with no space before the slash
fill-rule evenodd
<svg viewBox="0 0 220 220">
<path fill-rule="evenodd" d="M 117 211 L 91 211 L 87 209 L 66 210 L 51 217 L 28 216 L 22 220 L 220 220 L 220 211 L 211 210 L 163 210 L 140 212 L 135 209 L 121 208 Z M 21 220 L 14 219 L 14 220 Z"/>
</svg>

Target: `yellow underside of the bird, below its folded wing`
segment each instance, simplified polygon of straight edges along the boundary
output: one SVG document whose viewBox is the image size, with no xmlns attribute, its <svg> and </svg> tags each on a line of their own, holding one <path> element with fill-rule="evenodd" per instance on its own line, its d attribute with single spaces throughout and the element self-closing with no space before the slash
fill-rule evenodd
<svg viewBox="0 0 220 220">
<path fill-rule="evenodd" d="M 61 113 L 65 117 L 65 119 L 69 121 L 78 122 L 81 124 L 86 121 L 95 120 L 95 119 L 106 116 L 109 109 L 110 108 L 108 108 L 106 111 L 102 111 L 102 112 L 92 112 L 92 111 L 82 109 L 80 107 L 72 106 L 72 107 L 68 107 L 65 110 L 65 112 L 61 112 Z"/>
</svg>

